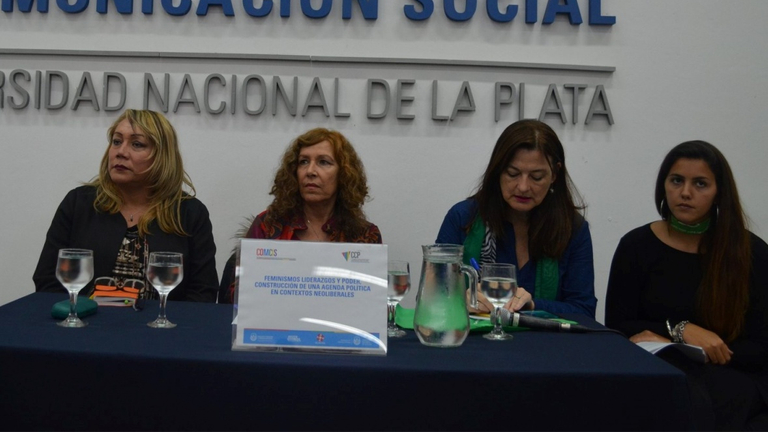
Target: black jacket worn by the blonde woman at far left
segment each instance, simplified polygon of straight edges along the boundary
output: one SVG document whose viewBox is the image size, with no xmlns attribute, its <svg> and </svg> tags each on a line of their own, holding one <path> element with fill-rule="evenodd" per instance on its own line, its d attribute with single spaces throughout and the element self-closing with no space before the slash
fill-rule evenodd
<svg viewBox="0 0 768 432">
<path fill-rule="evenodd" d="M 63 292 L 56 279 L 56 261 L 62 248 L 93 250 L 94 279 L 110 276 L 128 225 L 120 213 L 97 212 L 93 207 L 96 188 L 81 186 L 71 190 L 56 210 L 48 229 L 43 251 L 32 279 L 36 291 Z M 213 242 L 208 209 L 197 198 L 181 202 L 181 226 L 188 236 L 163 232 L 153 221 L 146 236 L 150 252 L 184 254 L 184 279 L 170 300 L 215 302 L 218 289 L 216 245 Z M 93 282 L 82 290 L 93 290 Z"/>
</svg>

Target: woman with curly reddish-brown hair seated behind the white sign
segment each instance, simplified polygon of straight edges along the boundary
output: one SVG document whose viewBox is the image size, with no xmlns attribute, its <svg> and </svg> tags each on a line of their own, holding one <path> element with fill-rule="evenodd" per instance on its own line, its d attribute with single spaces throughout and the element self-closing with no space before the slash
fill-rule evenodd
<svg viewBox="0 0 768 432">
<path fill-rule="evenodd" d="M 256 216 L 245 237 L 344 243 L 381 243 L 365 219 L 365 168 L 337 131 L 316 128 L 296 138 L 283 155 L 272 190 L 275 199 Z M 231 303 L 234 260 L 225 269 L 219 302 Z"/>
</svg>

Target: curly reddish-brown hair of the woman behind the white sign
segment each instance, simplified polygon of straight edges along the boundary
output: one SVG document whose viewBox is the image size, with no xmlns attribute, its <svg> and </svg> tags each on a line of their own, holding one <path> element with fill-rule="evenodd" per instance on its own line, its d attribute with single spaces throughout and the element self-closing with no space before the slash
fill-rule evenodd
<svg viewBox="0 0 768 432">
<path fill-rule="evenodd" d="M 315 128 L 303 133 L 286 149 L 269 192 L 275 199 L 267 208 L 264 222 L 274 224 L 282 218 L 303 214 L 304 200 L 299 192 L 297 175 L 299 153 L 301 149 L 323 141 L 331 144 L 334 159 L 339 165 L 334 218 L 347 238 L 358 236 L 368 226 L 363 212 L 363 204 L 368 198 L 365 168 L 349 140 L 338 131 L 325 128 Z"/>
</svg>

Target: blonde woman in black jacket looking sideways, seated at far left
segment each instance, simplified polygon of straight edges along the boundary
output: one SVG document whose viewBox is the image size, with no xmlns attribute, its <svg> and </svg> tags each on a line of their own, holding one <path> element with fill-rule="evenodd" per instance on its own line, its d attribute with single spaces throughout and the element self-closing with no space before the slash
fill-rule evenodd
<svg viewBox="0 0 768 432">
<path fill-rule="evenodd" d="M 145 286 L 151 251 L 181 252 L 184 279 L 170 300 L 216 300 L 216 245 L 205 205 L 194 197 L 176 131 L 160 113 L 126 110 L 107 132 L 99 175 L 71 190 L 48 230 L 33 280 L 37 291 L 61 291 L 62 248 L 94 252 L 94 290 L 154 298 Z M 189 192 L 184 191 L 184 187 Z M 132 295 L 131 295 L 132 294 Z"/>
</svg>

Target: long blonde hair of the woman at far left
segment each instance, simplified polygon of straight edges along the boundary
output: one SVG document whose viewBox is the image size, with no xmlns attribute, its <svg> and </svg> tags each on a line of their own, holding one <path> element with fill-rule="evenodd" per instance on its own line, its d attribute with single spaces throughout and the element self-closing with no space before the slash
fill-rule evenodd
<svg viewBox="0 0 768 432">
<path fill-rule="evenodd" d="M 128 120 L 133 128 L 140 129 L 153 144 L 150 154 L 150 159 L 153 159 L 152 165 L 147 171 L 149 209 L 139 219 L 139 235 L 150 234 L 149 224 L 155 219 L 163 232 L 187 235 L 181 226 L 181 201 L 194 196 L 195 187 L 184 171 L 176 131 L 165 116 L 155 111 L 126 110 L 109 127 L 107 131 L 109 144 L 101 159 L 99 175 L 89 183 L 96 188 L 93 207 L 96 211 L 115 214 L 123 205 L 120 191 L 109 175 L 109 149 L 112 146 L 112 135 L 123 120 Z M 184 185 L 188 187 L 189 192 L 182 190 Z"/>
</svg>

